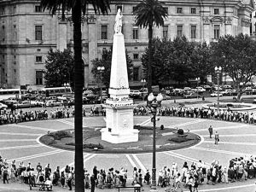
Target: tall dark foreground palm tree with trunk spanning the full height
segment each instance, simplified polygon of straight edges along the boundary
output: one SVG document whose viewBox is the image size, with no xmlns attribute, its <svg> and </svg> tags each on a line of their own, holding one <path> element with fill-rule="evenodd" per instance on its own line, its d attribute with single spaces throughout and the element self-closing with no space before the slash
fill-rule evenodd
<svg viewBox="0 0 256 192">
<path fill-rule="evenodd" d="M 84 87 L 84 65 L 82 60 L 81 16 L 87 6 L 92 4 L 95 13 L 108 14 L 110 0 L 41 0 L 42 8 L 55 14 L 61 10 L 62 20 L 65 11 L 72 10 L 73 49 L 74 49 L 74 92 L 75 92 L 75 191 L 84 191 L 84 156 L 83 156 L 83 116 L 82 94 Z"/>
</svg>

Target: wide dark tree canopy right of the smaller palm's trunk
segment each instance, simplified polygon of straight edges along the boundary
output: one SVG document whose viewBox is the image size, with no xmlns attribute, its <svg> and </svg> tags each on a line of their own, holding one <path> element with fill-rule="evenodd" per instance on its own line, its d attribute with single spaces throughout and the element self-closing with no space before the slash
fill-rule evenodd
<svg viewBox="0 0 256 192">
<path fill-rule="evenodd" d="M 209 69 L 211 49 L 206 43 L 189 42 L 187 38 L 154 38 L 152 41 L 153 84 L 178 83 L 200 77 L 205 80 Z M 148 75 L 148 48 L 142 57 L 143 71 Z"/>
</svg>

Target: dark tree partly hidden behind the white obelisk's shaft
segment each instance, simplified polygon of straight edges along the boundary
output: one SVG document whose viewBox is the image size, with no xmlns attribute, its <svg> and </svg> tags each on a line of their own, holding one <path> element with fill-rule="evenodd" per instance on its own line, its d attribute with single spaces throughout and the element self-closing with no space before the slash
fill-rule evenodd
<svg viewBox="0 0 256 192">
<path fill-rule="evenodd" d="M 126 64 L 127 64 L 127 72 L 128 72 L 128 78 L 131 79 L 132 75 L 132 61 L 130 56 L 127 54 L 127 51 L 125 51 L 126 55 Z M 104 49 L 102 52 L 102 59 L 94 59 L 91 61 L 92 63 L 92 69 L 91 73 L 93 73 L 93 76 L 97 78 L 97 75 L 99 74 L 97 71 L 97 67 L 105 67 L 104 73 L 102 73 L 102 83 L 105 84 L 107 87 L 110 83 L 110 73 L 111 73 L 111 61 L 112 61 L 112 49 Z"/>
</svg>

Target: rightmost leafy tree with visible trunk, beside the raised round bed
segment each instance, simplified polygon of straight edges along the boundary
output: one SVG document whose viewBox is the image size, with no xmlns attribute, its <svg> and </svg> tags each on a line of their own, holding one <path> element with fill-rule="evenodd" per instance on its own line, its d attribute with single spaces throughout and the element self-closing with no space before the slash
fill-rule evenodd
<svg viewBox="0 0 256 192">
<path fill-rule="evenodd" d="M 223 73 L 233 79 L 240 99 L 242 89 L 256 75 L 256 42 L 242 33 L 236 37 L 225 35 L 212 44 L 212 50 L 212 66 L 221 66 Z"/>
</svg>

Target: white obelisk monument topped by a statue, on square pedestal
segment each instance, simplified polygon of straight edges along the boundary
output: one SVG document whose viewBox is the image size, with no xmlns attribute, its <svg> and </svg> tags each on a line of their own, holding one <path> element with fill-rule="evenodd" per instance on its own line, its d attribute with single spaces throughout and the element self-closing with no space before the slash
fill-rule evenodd
<svg viewBox="0 0 256 192">
<path fill-rule="evenodd" d="M 130 143 L 138 141 L 138 130 L 133 129 L 133 100 L 125 58 L 125 39 L 121 32 L 122 14 L 120 9 L 115 18 L 111 76 L 106 101 L 106 128 L 102 129 L 102 140 L 108 143 Z"/>
</svg>

